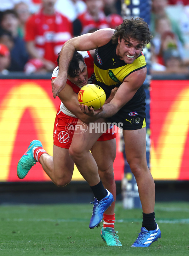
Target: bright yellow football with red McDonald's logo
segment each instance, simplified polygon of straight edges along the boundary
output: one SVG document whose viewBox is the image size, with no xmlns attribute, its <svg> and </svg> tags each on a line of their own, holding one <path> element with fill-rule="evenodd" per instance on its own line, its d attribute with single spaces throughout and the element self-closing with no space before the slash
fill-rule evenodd
<svg viewBox="0 0 189 256">
<path fill-rule="evenodd" d="M 92 107 L 94 110 L 97 110 L 104 105 L 106 94 L 100 86 L 88 84 L 81 88 L 77 98 L 80 104 L 87 105 L 88 108 Z"/>
</svg>

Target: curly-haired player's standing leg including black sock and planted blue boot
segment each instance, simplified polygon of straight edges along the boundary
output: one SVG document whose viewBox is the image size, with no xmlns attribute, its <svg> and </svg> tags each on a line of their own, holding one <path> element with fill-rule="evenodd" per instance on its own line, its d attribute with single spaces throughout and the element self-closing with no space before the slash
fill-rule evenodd
<svg viewBox="0 0 189 256">
<path fill-rule="evenodd" d="M 148 247 L 161 238 L 155 222 L 155 184 L 146 163 L 146 129 L 123 130 L 126 158 L 135 176 L 143 211 L 141 232 L 132 247 Z"/>
</svg>

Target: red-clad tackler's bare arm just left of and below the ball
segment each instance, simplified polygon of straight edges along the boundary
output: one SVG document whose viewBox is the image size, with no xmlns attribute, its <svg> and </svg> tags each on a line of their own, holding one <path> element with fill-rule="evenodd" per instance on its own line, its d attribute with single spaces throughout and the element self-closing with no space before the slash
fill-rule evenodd
<svg viewBox="0 0 189 256">
<path fill-rule="evenodd" d="M 77 93 L 75 93 L 71 86 L 66 84 L 64 89 L 59 92 L 59 98 L 65 107 L 72 112 L 77 118 L 85 123 L 89 123 L 93 121 L 93 117 L 85 115 L 81 109 L 79 108 Z"/>
</svg>

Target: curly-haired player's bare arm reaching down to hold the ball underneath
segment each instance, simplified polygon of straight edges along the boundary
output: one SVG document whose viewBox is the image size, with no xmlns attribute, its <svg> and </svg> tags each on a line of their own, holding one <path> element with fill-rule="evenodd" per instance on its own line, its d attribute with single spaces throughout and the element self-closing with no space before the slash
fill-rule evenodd
<svg viewBox="0 0 189 256">
<path fill-rule="evenodd" d="M 137 92 L 146 78 L 146 68 L 142 68 L 130 74 L 117 89 L 110 103 L 105 104 L 99 110 L 81 105 L 83 113 L 94 116 L 93 122 L 101 117 L 107 118 L 115 115 Z"/>
</svg>

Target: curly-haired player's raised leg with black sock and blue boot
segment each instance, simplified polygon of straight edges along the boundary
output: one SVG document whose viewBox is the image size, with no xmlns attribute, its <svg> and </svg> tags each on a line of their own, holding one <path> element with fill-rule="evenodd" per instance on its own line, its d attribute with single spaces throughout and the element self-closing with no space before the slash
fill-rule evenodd
<svg viewBox="0 0 189 256">
<path fill-rule="evenodd" d="M 77 169 L 89 183 L 95 196 L 95 200 L 92 202 L 94 206 L 89 223 L 90 229 L 98 226 L 102 220 L 104 211 L 106 211 L 114 201 L 112 193 L 105 189 L 100 181 L 98 166 L 90 153 L 90 149 L 101 134 L 102 133 L 97 133 L 95 129 L 91 130 L 90 125 L 88 125 L 88 129 L 84 133 L 82 133 L 82 131 L 79 134 L 74 133 L 72 144 L 69 149 L 70 156 L 76 164 Z"/>
</svg>

